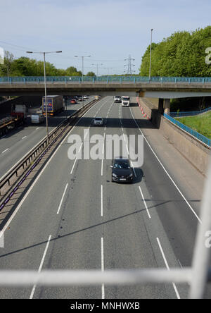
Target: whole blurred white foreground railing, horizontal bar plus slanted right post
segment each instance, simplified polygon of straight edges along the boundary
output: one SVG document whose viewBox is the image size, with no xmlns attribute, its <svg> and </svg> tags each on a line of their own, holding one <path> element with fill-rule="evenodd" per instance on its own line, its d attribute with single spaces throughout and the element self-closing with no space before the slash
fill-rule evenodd
<svg viewBox="0 0 211 313">
<path fill-rule="evenodd" d="M 211 231 L 211 161 L 208 170 L 201 223 L 193 255 L 192 268 L 185 269 L 132 269 L 110 271 L 0 271 L 0 286 L 98 286 L 106 284 L 133 285 L 145 283 L 188 283 L 191 299 L 203 298 L 210 274 L 210 248 L 205 245 L 205 235 Z"/>
</svg>

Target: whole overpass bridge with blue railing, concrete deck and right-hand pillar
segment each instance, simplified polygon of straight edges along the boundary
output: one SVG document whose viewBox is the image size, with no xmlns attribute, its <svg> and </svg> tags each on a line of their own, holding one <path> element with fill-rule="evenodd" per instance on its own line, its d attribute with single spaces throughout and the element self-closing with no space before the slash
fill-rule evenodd
<svg viewBox="0 0 211 313">
<path fill-rule="evenodd" d="M 211 97 L 211 78 L 141 76 L 48 76 L 48 94 L 101 94 L 159 98 L 165 113 L 170 111 L 170 99 Z M 44 95 L 44 77 L 0 77 L 0 95 Z"/>
</svg>

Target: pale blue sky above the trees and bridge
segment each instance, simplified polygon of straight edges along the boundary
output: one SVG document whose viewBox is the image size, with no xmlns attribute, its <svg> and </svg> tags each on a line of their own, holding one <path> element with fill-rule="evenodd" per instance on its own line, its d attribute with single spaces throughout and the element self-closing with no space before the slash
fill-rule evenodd
<svg viewBox="0 0 211 313">
<path fill-rule="evenodd" d="M 1 0 L 0 47 L 15 57 L 26 50 L 54 51 L 47 60 L 57 68 L 82 69 L 75 55 L 85 59 L 84 72 L 123 73 L 129 54 L 138 73 L 150 44 L 177 30 L 210 25 L 210 0 Z M 13 44 L 13 45 L 9 45 Z M 18 47 L 15 47 L 18 46 Z M 34 54 L 34 59 L 41 59 Z M 92 66 L 95 64 L 95 66 Z"/>
</svg>

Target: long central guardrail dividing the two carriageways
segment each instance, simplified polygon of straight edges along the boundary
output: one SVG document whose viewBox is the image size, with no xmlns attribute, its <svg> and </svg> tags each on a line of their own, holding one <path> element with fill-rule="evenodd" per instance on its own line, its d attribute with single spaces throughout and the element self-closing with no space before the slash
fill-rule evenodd
<svg viewBox="0 0 211 313">
<path fill-rule="evenodd" d="M 51 149 L 53 144 L 58 140 L 58 138 L 63 135 L 65 130 L 68 128 L 70 123 L 75 120 L 75 118 L 83 115 L 92 105 L 94 105 L 98 100 L 94 99 L 89 102 L 86 106 L 79 109 L 71 116 L 61 122 L 55 130 L 49 133 L 49 145 L 47 144 L 47 137 L 41 140 L 37 146 L 35 146 L 23 159 L 11 168 L 6 176 L 3 176 L 0 180 L 0 211 L 6 206 L 14 193 L 18 190 L 20 185 L 26 180 L 33 169 L 39 164 L 43 156 Z"/>
</svg>

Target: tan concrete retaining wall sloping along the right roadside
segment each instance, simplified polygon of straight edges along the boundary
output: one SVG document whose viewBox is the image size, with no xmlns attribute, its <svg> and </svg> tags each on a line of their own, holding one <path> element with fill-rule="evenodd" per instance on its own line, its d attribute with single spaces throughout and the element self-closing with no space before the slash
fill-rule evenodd
<svg viewBox="0 0 211 313">
<path fill-rule="evenodd" d="M 193 166 L 205 175 L 205 173 L 207 173 L 211 149 L 188 133 L 185 133 L 176 125 L 170 123 L 170 121 L 167 121 L 164 116 L 158 113 L 158 109 L 153 106 L 148 99 L 139 98 L 139 103 L 143 111 L 151 117 L 152 123 L 160 129 L 162 135 L 164 135 Z"/>
</svg>

